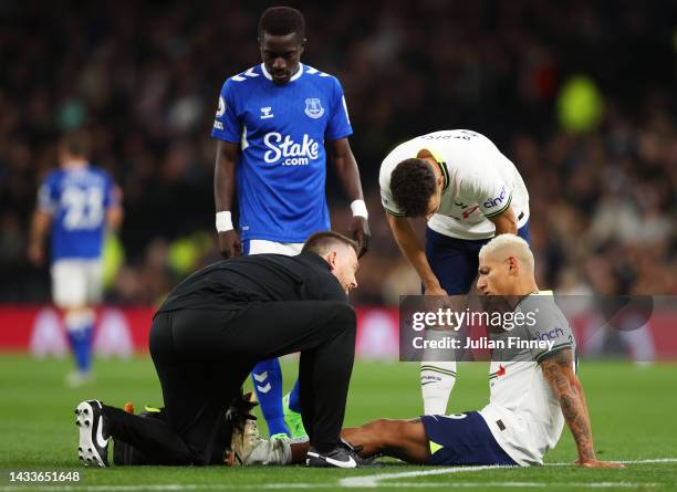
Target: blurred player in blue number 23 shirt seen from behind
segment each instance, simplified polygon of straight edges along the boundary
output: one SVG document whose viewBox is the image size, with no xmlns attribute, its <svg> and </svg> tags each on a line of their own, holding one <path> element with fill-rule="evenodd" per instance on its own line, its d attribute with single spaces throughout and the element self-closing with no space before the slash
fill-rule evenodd
<svg viewBox="0 0 677 492">
<path fill-rule="evenodd" d="M 92 339 L 103 284 L 103 242 L 106 228 L 122 222 L 121 192 L 103 169 L 91 166 L 90 139 L 66 135 L 59 147 L 61 168 L 50 172 L 38 195 L 29 259 L 44 262 L 51 230 L 52 297 L 62 310 L 76 370 L 69 386 L 91 379 Z"/>
</svg>

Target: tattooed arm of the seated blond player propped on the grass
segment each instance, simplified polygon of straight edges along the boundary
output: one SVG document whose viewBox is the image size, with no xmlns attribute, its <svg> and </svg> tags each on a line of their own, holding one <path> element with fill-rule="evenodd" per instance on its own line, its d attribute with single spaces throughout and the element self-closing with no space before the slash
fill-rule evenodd
<svg viewBox="0 0 677 492">
<path fill-rule="evenodd" d="M 576 441 L 577 464 L 582 467 L 623 468 L 621 463 L 597 461 L 593 448 L 592 428 L 585 395 L 581 381 L 574 374 L 573 353 L 566 348 L 545 358 L 541 369 L 552 392 L 560 401 L 566 425 Z"/>
</svg>

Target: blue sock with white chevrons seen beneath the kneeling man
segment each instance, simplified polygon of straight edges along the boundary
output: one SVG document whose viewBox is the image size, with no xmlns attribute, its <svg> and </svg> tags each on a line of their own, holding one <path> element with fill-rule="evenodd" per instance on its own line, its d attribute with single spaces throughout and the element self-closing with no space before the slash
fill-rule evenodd
<svg viewBox="0 0 677 492">
<path fill-rule="evenodd" d="M 277 358 L 262 360 L 251 371 L 251 379 L 257 391 L 261 412 L 268 423 L 268 433 L 290 435 L 284 423 L 284 410 L 282 408 L 282 369 Z"/>
</svg>

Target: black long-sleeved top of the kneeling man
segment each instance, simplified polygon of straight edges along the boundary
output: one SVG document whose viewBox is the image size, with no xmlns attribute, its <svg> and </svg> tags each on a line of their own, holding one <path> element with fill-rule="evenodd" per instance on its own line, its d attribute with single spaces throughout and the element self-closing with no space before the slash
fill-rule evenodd
<svg viewBox="0 0 677 492">
<path fill-rule="evenodd" d="M 347 295 L 329 263 L 315 253 L 257 254 L 204 268 L 167 296 L 158 313 L 176 310 L 233 310 L 252 302 L 341 301 Z"/>
</svg>

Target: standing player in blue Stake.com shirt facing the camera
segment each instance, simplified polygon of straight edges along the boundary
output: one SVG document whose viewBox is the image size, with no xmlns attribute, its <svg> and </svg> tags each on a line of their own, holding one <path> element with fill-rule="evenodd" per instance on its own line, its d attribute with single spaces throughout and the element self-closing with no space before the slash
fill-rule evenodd
<svg viewBox="0 0 677 492">
<path fill-rule="evenodd" d="M 226 81 L 211 133 L 218 139 L 215 197 L 221 253 L 298 254 L 310 234 L 330 229 L 329 155 L 352 201 L 350 229 L 362 255 L 369 237 L 367 210 L 347 140 L 353 129 L 341 84 L 300 63 L 305 22 L 298 10 L 265 10 L 258 36 L 262 63 Z M 237 229 L 231 217 L 236 190 Z M 285 409 L 277 359 L 258 364 L 252 378 L 270 435 L 302 438 L 298 381 L 284 397 Z"/>
</svg>

